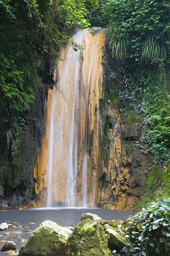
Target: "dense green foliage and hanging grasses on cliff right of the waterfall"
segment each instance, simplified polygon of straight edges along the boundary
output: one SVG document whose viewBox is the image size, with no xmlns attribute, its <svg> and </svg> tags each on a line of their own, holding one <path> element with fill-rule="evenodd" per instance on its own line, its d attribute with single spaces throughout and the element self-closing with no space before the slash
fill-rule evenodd
<svg viewBox="0 0 170 256">
<path fill-rule="evenodd" d="M 143 114 L 145 151 L 154 163 L 170 160 L 169 1 L 119 0 L 106 3 L 112 56 L 122 61 L 121 112 Z"/>
</svg>

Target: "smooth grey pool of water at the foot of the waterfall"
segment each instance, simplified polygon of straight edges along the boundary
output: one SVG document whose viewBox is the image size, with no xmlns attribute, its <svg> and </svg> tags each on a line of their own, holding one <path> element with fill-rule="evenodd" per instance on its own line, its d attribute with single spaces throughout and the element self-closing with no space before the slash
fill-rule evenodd
<svg viewBox="0 0 170 256">
<path fill-rule="evenodd" d="M 119 221 L 125 220 L 127 215 L 135 214 L 134 212 L 129 211 L 119 211 L 100 208 L 33 208 L 13 211 L 0 211 L 0 223 L 9 220 L 7 224 L 11 223 L 16 226 L 15 229 L 8 228 L 7 231 L 0 231 L 0 240 L 11 240 L 14 243 L 16 243 L 16 253 L 13 255 L 17 255 L 19 249 L 22 246 L 22 244 L 19 243 L 18 239 L 24 238 L 28 240 L 33 230 L 35 230 L 44 220 L 52 220 L 61 226 L 69 227 L 72 225 L 77 225 L 80 222 L 81 215 L 86 212 L 97 214 L 98 216 L 100 216 L 100 218 L 104 220 L 115 219 Z M 31 224 L 31 222 L 35 224 Z M 27 228 L 23 228 L 24 226 L 26 226 Z M 31 232 L 23 232 L 25 229 L 30 230 Z M 9 234 L 5 235 L 5 233 L 7 232 L 9 232 Z M 14 234 L 16 232 L 17 236 L 10 237 L 10 234 Z M 0 242 L 0 247 L 4 243 L 5 242 Z M 2 255 L 5 256 L 6 252 L 0 251 L 0 256 Z"/>
</svg>

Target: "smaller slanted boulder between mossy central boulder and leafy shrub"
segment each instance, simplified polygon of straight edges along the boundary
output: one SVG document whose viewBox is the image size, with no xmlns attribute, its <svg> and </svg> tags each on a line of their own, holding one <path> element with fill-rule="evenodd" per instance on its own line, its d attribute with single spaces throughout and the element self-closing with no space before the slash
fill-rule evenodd
<svg viewBox="0 0 170 256">
<path fill-rule="evenodd" d="M 105 233 L 110 235 L 112 245 L 117 246 L 120 249 L 123 249 L 123 247 L 126 246 L 124 238 L 119 233 L 117 233 L 113 228 L 107 228 L 105 230 Z"/>
</svg>

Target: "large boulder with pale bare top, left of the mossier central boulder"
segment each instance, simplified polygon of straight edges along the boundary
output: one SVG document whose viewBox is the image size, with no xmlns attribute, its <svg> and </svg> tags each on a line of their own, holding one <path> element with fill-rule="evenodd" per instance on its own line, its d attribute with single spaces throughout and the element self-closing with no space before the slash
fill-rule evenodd
<svg viewBox="0 0 170 256">
<path fill-rule="evenodd" d="M 65 243 L 72 234 L 67 227 L 45 220 L 30 235 L 28 241 L 21 247 L 20 255 L 65 255 Z"/>
</svg>

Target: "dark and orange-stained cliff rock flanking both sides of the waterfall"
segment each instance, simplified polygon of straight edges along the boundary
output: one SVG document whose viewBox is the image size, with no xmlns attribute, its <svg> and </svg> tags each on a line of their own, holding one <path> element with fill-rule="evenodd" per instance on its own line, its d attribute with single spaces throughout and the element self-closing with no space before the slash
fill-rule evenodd
<svg viewBox="0 0 170 256">
<path fill-rule="evenodd" d="M 87 143 L 88 206 L 140 210 L 149 200 L 169 195 L 169 169 L 166 168 L 167 166 L 161 167 L 161 170 L 159 167 L 154 169 L 151 155 L 143 153 L 139 146 L 143 129 L 142 117 L 137 119 L 134 111 L 128 111 L 126 115 L 120 111 L 118 92 L 124 87 L 123 74 L 120 72 L 121 63 L 112 59 L 107 43 L 102 46 L 102 54 L 103 81 L 100 82 L 98 91 L 100 97 L 97 102 L 96 87 L 93 91 L 94 104 L 90 105 L 88 112 L 90 138 Z M 116 79 L 112 79 L 114 76 Z M 38 159 L 43 149 L 42 138 L 47 132 L 45 131 L 48 125 L 47 108 L 48 104 L 50 106 L 52 88 L 53 85 L 50 88 L 49 84 L 37 88 L 35 104 L 31 105 L 29 113 L 25 113 L 27 121 L 23 127 L 17 159 L 13 158 L 10 149 L 7 149 L 6 138 L 3 135 L 5 120 L 1 122 L 1 209 L 43 205 L 41 199 L 44 198 L 44 194 L 41 191 L 44 192 L 47 188 L 44 187 L 44 170 L 41 166 L 43 161 L 46 161 L 47 155 L 44 155 L 43 161 Z M 89 97 L 92 97 L 92 94 Z M 97 119 L 99 135 L 96 146 Z M 79 158 L 82 162 L 81 154 Z M 82 174 L 79 172 L 77 177 L 76 193 L 77 197 L 81 198 Z M 151 197 L 151 194 L 154 196 Z"/>
</svg>

